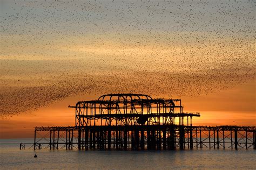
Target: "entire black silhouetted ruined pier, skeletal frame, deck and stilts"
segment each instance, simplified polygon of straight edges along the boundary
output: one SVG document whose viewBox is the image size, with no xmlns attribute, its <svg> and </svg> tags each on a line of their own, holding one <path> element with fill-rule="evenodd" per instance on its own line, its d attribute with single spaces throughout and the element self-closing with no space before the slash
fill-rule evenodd
<svg viewBox="0 0 256 170">
<path fill-rule="evenodd" d="M 256 148 L 255 126 L 192 126 L 179 99 L 142 94 L 110 94 L 80 101 L 76 126 L 35 128 L 34 150 L 174 150 L 180 148 Z M 185 123 L 184 123 L 185 120 Z M 36 134 L 42 138 L 36 140 Z M 31 147 L 32 147 L 31 146 Z"/>
</svg>

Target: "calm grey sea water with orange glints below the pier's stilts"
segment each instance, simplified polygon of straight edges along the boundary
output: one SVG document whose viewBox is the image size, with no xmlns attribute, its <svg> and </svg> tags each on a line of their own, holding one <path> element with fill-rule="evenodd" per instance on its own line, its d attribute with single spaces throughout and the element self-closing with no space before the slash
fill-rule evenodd
<svg viewBox="0 0 256 170">
<path fill-rule="evenodd" d="M 256 169 L 256 151 L 19 150 L 32 139 L 0 139 L 0 169 Z"/>
</svg>

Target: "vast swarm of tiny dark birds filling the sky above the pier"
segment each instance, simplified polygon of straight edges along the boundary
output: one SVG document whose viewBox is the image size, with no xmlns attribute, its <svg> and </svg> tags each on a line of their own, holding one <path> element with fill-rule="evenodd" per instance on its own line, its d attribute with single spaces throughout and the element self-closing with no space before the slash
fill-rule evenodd
<svg viewBox="0 0 256 170">
<path fill-rule="evenodd" d="M 197 96 L 255 79 L 254 1 L 0 2 L 0 113 L 82 94 Z"/>
</svg>

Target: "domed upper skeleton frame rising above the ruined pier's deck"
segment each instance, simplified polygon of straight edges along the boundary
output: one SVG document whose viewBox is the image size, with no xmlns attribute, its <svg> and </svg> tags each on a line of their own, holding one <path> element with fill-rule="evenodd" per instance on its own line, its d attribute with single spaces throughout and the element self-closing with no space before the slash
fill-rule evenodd
<svg viewBox="0 0 256 170">
<path fill-rule="evenodd" d="M 178 124 L 183 125 L 184 117 L 192 121 L 193 116 L 200 116 L 183 113 L 180 99 L 153 99 L 142 94 L 103 95 L 69 107 L 76 109 L 76 126 L 176 124 L 176 117 Z"/>
</svg>

